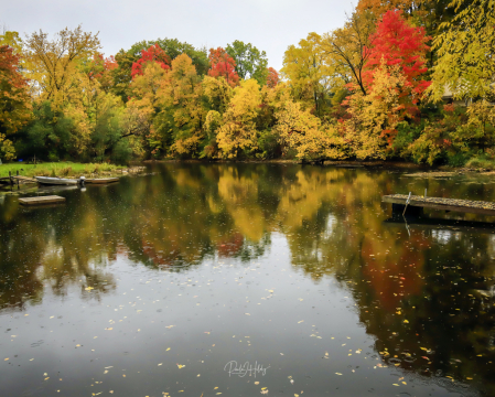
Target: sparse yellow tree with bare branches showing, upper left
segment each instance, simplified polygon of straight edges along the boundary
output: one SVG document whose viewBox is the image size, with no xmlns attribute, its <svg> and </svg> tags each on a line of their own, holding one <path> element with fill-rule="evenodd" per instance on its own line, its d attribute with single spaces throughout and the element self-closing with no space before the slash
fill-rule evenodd
<svg viewBox="0 0 495 397">
<path fill-rule="evenodd" d="M 90 57 L 99 49 L 98 34 L 67 28 L 49 40 L 40 30 L 25 40 L 25 67 L 31 85 L 41 99 L 49 99 L 55 106 L 67 100 L 77 62 Z"/>
</svg>

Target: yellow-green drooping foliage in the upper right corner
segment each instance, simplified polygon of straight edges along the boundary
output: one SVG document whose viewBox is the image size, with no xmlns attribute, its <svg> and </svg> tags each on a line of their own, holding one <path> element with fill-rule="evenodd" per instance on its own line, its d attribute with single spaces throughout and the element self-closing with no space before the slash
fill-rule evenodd
<svg viewBox="0 0 495 397">
<path fill-rule="evenodd" d="M 438 61 L 430 92 L 440 100 L 448 87 L 455 98 L 484 97 L 494 83 L 495 0 L 453 0 L 456 14 L 433 40 Z"/>
</svg>

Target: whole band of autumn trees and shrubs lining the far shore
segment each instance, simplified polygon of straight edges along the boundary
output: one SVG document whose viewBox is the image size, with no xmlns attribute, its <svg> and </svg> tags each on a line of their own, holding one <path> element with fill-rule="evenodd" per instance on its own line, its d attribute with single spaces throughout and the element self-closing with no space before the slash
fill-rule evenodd
<svg viewBox="0 0 495 397">
<path fill-rule="evenodd" d="M 141 41 L 106 57 L 80 25 L 7 31 L 0 159 L 495 170 L 494 1 L 359 0 L 342 28 L 289 45 L 280 71 L 237 40 L 209 50 Z"/>
</svg>

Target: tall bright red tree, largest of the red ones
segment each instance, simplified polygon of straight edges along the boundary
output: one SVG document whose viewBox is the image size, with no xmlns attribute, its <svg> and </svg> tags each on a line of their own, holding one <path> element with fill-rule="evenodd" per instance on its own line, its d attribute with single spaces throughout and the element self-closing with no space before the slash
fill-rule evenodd
<svg viewBox="0 0 495 397">
<path fill-rule="evenodd" d="M 381 60 L 388 66 L 399 65 L 406 85 L 400 93 L 405 109 L 410 116 L 417 112 L 417 104 L 431 84 L 422 79 L 427 72 L 426 54 L 430 49 L 424 28 L 410 25 L 402 17 L 402 11 L 390 10 L 381 15 L 368 49 L 369 56 L 363 74 L 364 84 L 370 88 L 374 84 L 375 72 L 380 67 Z M 408 103 L 408 104 L 407 104 Z"/>
</svg>

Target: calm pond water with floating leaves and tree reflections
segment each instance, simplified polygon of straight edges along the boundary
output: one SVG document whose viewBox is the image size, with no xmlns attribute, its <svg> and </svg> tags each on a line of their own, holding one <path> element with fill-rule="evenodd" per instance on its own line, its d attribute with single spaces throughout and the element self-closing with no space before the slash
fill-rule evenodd
<svg viewBox="0 0 495 397">
<path fill-rule="evenodd" d="M 495 218 L 380 203 L 495 201 L 491 179 L 149 172 L 0 196 L 0 396 L 495 395 Z"/>
</svg>

